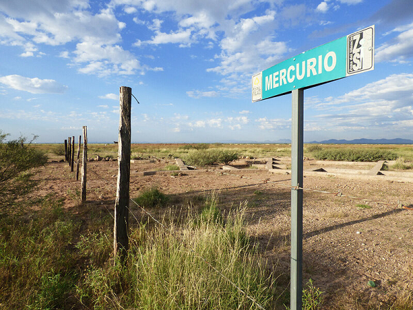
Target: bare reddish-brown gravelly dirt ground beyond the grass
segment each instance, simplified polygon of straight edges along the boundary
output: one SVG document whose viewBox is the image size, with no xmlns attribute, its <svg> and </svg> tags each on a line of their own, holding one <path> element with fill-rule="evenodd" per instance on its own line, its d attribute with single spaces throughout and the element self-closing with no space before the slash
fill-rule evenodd
<svg viewBox="0 0 413 310">
<path fill-rule="evenodd" d="M 223 209 L 248 200 L 247 233 L 260 242 L 269 266 L 282 273 L 279 280 L 288 285 L 290 174 L 271 174 L 266 169 L 222 170 L 219 166 L 179 176 L 160 171 L 171 163 L 173 159 L 131 163 L 131 198 L 156 185 L 165 194 L 178 197 L 178 207 L 188 207 L 191 198 L 209 192 L 218 193 Z M 145 171 L 157 172 L 143 176 Z M 87 163 L 87 203 L 113 211 L 117 172 L 117 162 Z M 36 176 L 41 180 L 37 194 L 54 193 L 65 199 L 67 209 L 75 209 L 81 181 L 67 163 L 47 163 Z M 399 203 L 413 207 L 413 183 L 306 176 L 303 187 L 304 283 L 313 279 L 315 287 L 325 292 L 322 309 L 379 309 L 398 294 L 412 292 L 413 211 L 402 209 Z M 335 195 L 339 190 L 382 203 Z M 160 216 L 159 210 L 152 211 L 153 216 Z M 377 287 L 370 287 L 368 281 Z"/>
</svg>

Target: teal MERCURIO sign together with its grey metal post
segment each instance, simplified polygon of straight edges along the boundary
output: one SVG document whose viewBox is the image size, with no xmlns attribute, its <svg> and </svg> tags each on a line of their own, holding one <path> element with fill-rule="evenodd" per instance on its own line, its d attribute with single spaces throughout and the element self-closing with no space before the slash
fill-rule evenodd
<svg viewBox="0 0 413 310">
<path fill-rule="evenodd" d="M 292 92 L 290 310 L 301 310 L 304 90 L 374 70 L 374 25 L 273 65 L 252 77 L 252 101 Z"/>
</svg>

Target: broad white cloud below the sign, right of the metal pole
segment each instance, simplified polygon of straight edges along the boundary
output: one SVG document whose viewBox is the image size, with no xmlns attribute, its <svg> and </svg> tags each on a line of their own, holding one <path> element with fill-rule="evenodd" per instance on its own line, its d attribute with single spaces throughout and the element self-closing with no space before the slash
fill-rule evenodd
<svg viewBox="0 0 413 310">
<path fill-rule="evenodd" d="M 400 132 L 412 120 L 413 74 L 392 74 L 336 98 L 320 100 L 316 110 L 328 110 L 307 118 L 306 131 Z M 404 127 L 404 132 L 406 128 Z"/>
</svg>

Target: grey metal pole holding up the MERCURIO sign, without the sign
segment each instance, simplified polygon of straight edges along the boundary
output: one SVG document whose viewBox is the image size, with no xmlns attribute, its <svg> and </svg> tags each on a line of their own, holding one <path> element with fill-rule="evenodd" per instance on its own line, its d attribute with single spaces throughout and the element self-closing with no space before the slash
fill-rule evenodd
<svg viewBox="0 0 413 310">
<path fill-rule="evenodd" d="M 304 90 L 293 90 L 291 131 L 291 280 L 290 310 L 301 310 L 303 275 Z"/>
</svg>

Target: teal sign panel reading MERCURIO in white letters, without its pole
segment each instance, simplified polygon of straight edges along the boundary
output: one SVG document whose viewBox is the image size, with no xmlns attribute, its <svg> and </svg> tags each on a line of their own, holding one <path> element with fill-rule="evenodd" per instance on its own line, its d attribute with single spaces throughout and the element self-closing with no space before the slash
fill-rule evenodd
<svg viewBox="0 0 413 310">
<path fill-rule="evenodd" d="M 273 65 L 252 79 L 253 102 L 374 70 L 374 25 Z"/>
</svg>

